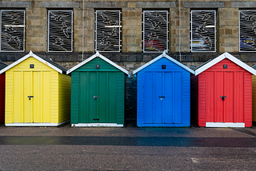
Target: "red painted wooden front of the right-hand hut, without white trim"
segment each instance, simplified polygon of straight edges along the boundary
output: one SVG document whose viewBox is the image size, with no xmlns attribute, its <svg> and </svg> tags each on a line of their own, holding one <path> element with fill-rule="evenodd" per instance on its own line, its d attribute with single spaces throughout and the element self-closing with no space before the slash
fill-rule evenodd
<svg viewBox="0 0 256 171">
<path fill-rule="evenodd" d="M 227 69 L 223 69 L 223 65 L 227 65 Z M 250 127 L 251 83 L 251 74 L 229 59 L 223 59 L 199 74 L 198 117 L 195 124 L 206 126 L 206 122 L 243 122 Z M 221 96 L 226 96 L 224 101 Z"/>
</svg>

